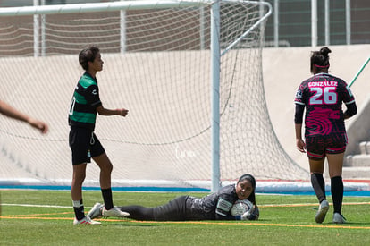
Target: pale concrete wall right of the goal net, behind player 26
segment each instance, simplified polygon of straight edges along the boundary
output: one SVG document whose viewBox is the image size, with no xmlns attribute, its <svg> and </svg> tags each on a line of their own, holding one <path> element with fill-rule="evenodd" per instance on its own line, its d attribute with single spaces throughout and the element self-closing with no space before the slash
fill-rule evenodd
<svg viewBox="0 0 370 246">
<path fill-rule="evenodd" d="M 308 161 L 305 154 L 296 149 L 294 132 L 294 97 L 299 83 L 312 74 L 310 73 L 311 51 L 321 47 L 288 47 L 265 48 L 263 51 L 263 71 L 267 107 L 270 113 L 273 129 L 280 140 L 282 147 L 300 166 L 308 170 Z M 350 83 L 361 66 L 370 56 L 370 45 L 329 46 L 331 67 L 329 72 L 341 77 Z M 357 129 L 367 131 L 370 115 L 361 112 L 369 103 L 370 97 L 370 64 L 358 76 L 351 90 L 357 101 L 358 114 L 346 125 L 349 134 L 349 149 L 356 149 Z M 343 107 L 345 110 L 345 106 Z M 357 121 L 360 119 L 360 122 Z M 367 123 L 363 122 L 367 121 Z M 352 128 L 353 125 L 353 128 Z M 352 128 L 352 129 L 351 129 Z M 356 141 L 355 141 L 356 140 Z"/>
</svg>

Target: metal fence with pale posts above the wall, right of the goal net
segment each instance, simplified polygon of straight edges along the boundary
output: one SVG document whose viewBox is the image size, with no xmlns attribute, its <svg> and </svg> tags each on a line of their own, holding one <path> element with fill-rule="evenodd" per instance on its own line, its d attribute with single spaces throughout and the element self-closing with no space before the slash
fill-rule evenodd
<svg viewBox="0 0 370 246">
<path fill-rule="evenodd" d="M 272 47 L 370 43 L 370 1 L 267 0 L 273 15 L 265 41 Z"/>
</svg>

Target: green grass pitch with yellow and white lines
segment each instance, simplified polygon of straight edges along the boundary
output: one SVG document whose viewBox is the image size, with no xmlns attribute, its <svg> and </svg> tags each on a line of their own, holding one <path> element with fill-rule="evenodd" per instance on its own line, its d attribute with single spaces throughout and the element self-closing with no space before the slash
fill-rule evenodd
<svg viewBox="0 0 370 246">
<path fill-rule="evenodd" d="M 344 198 L 342 212 L 349 222 L 345 225 L 332 224 L 332 204 L 324 223 L 316 224 L 314 196 L 257 194 L 258 221 L 158 223 L 109 218 L 101 220 L 102 225 L 76 226 L 69 191 L 0 192 L 0 245 L 370 245 L 369 198 Z M 114 204 L 157 206 L 183 194 L 114 192 Z M 84 191 L 83 196 L 86 212 L 102 201 L 99 191 Z"/>
</svg>

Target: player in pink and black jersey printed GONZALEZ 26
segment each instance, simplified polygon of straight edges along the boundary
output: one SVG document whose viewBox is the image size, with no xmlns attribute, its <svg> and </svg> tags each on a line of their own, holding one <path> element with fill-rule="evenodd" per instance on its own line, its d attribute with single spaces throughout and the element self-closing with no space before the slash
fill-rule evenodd
<svg viewBox="0 0 370 246">
<path fill-rule="evenodd" d="M 307 152 L 311 183 L 320 207 L 315 221 L 322 223 L 329 209 L 325 196 L 324 158 L 329 165 L 331 178 L 334 223 L 345 223 L 341 215 L 343 200 L 343 182 L 341 178 L 344 151 L 347 145 L 347 134 L 344 120 L 357 114 L 357 106 L 349 86 L 338 77 L 328 73 L 328 47 L 315 51 L 311 55 L 311 72 L 313 77 L 299 85 L 295 104 L 295 129 L 297 148 Z M 341 106 L 347 110 L 343 113 Z M 305 115 L 305 140 L 302 139 L 303 114 Z"/>
</svg>

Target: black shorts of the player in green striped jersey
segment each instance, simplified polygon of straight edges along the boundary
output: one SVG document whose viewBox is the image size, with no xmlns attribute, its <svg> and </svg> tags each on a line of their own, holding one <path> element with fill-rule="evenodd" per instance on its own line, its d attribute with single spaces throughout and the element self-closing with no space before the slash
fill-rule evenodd
<svg viewBox="0 0 370 246">
<path fill-rule="evenodd" d="M 91 162 L 91 157 L 98 157 L 105 153 L 94 131 L 82 127 L 71 127 L 70 147 L 72 164 Z"/>
</svg>

